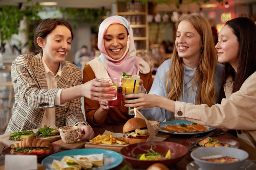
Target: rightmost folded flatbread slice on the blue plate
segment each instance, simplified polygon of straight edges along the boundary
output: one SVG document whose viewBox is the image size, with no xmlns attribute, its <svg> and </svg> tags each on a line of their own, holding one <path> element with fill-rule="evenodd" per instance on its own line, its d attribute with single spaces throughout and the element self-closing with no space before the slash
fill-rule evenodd
<svg viewBox="0 0 256 170">
<path fill-rule="evenodd" d="M 94 165 L 103 166 L 104 153 L 92 155 L 75 155 L 74 158 L 81 161 L 89 160 Z"/>
</svg>

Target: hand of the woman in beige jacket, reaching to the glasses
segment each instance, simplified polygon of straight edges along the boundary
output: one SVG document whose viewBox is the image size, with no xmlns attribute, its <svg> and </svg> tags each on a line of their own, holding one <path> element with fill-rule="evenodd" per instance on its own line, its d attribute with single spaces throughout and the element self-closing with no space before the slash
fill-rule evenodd
<svg viewBox="0 0 256 170">
<path fill-rule="evenodd" d="M 137 93 L 137 94 L 130 94 L 124 96 L 127 98 L 138 98 L 134 100 L 125 100 L 125 107 L 136 107 L 137 110 L 146 107 L 159 107 L 158 105 L 158 95 L 154 94 L 144 94 L 144 93 Z"/>
</svg>

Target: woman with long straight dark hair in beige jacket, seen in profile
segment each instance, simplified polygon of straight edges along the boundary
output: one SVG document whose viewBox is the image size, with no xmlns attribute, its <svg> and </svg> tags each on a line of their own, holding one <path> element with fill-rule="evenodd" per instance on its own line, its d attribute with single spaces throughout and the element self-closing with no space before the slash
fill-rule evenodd
<svg viewBox="0 0 256 170">
<path fill-rule="evenodd" d="M 228 21 L 218 35 L 215 48 L 218 61 L 224 64 L 226 98 L 211 107 L 202 104 L 161 100 L 161 108 L 174 112 L 175 118 L 203 125 L 237 130 L 241 138 L 256 148 L 256 25 L 249 18 Z M 151 95 L 151 94 L 149 94 Z M 127 95 L 128 98 L 136 95 Z M 151 95 L 154 102 L 128 100 L 129 107 L 154 107 L 160 96 Z M 132 101 L 132 102 L 131 102 Z"/>
</svg>

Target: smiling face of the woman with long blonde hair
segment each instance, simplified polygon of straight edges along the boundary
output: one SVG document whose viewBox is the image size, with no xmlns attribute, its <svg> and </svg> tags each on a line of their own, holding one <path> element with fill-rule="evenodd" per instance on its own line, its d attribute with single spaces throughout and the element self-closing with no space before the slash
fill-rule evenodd
<svg viewBox="0 0 256 170">
<path fill-rule="evenodd" d="M 199 35 L 194 26 L 184 20 L 179 23 L 177 28 L 177 37 L 175 45 L 179 54 L 184 60 L 191 62 L 199 60 L 202 50 L 202 37 Z M 184 62 L 186 64 L 186 62 Z"/>
</svg>

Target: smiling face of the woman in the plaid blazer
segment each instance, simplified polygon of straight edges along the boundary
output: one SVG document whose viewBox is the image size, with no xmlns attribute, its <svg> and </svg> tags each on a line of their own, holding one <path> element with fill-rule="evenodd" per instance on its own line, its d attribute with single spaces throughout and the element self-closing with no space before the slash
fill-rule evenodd
<svg viewBox="0 0 256 170">
<path fill-rule="evenodd" d="M 39 37 L 41 38 L 41 37 Z M 65 60 L 71 49 L 71 32 L 64 25 L 57 25 L 39 45 L 43 48 L 43 57 L 47 63 L 59 65 Z"/>
</svg>

